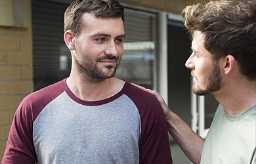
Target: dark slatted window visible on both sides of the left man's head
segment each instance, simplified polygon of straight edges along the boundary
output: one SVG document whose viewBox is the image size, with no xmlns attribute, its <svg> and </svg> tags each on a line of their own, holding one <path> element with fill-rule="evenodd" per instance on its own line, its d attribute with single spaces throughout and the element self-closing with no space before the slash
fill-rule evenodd
<svg viewBox="0 0 256 164">
<path fill-rule="evenodd" d="M 70 75 L 71 54 L 63 40 L 66 3 L 32 1 L 33 81 L 35 90 Z M 47 10 L 47 12 L 45 12 Z M 116 77 L 153 87 L 156 14 L 125 9 L 124 53 Z"/>
</svg>

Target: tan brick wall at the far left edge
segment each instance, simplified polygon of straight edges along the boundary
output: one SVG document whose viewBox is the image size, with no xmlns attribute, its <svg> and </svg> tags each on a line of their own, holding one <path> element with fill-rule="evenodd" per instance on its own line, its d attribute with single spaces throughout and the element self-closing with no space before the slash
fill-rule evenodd
<svg viewBox="0 0 256 164">
<path fill-rule="evenodd" d="M 22 26 L 20 27 L 12 24 L 14 21 L 12 14 L 15 12 L 12 10 L 12 1 L 0 0 L 0 5 L 10 11 L 6 14 L 7 10 L 5 10 L 5 20 L 0 22 L 1 161 L 16 108 L 22 98 L 33 91 L 33 56 L 31 1 L 22 1 L 22 16 L 20 17 Z"/>
</svg>

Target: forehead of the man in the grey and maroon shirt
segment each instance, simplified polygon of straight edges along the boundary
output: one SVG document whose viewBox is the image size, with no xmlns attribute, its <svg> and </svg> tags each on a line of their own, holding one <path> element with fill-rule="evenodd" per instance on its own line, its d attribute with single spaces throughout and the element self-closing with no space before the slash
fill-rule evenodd
<svg viewBox="0 0 256 164">
<path fill-rule="evenodd" d="M 82 32 L 85 33 L 108 33 L 112 35 L 123 35 L 124 27 L 121 17 L 102 18 L 92 14 L 84 13 L 82 16 Z"/>
</svg>

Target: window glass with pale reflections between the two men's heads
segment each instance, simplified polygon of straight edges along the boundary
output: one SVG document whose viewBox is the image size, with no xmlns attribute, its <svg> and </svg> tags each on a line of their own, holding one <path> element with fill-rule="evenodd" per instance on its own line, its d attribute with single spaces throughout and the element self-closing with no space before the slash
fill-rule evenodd
<svg viewBox="0 0 256 164">
<path fill-rule="evenodd" d="M 125 9 L 124 52 L 116 77 L 153 88 L 156 14 Z"/>
</svg>

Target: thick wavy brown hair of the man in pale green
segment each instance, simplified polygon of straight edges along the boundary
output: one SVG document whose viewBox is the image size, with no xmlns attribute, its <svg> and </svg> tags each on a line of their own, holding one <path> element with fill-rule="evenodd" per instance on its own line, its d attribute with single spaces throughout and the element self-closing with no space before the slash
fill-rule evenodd
<svg viewBox="0 0 256 164">
<path fill-rule="evenodd" d="M 182 10 L 184 25 L 193 35 L 205 34 L 205 49 L 213 60 L 232 54 L 240 72 L 256 79 L 256 1 L 221 0 L 190 5 Z"/>
</svg>

